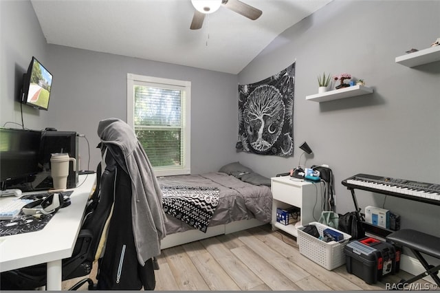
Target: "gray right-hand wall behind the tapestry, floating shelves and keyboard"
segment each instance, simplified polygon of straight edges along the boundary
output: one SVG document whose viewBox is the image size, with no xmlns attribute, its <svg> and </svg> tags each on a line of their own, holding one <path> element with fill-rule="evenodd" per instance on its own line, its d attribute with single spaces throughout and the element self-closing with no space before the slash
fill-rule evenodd
<svg viewBox="0 0 440 293">
<path fill-rule="evenodd" d="M 340 182 L 357 173 L 440 183 L 440 63 L 395 63 L 406 50 L 440 37 L 439 13 L 439 1 L 336 0 L 283 32 L 243 69 L 239 83 L 262 80 L 296 58 L 294 156 L 239 153 L 239 161 L 271 177 L 298 166 L 298 146 L 307 141 L 314 151 L 307 166 L 329 164 L 335 175 L 339 213 L 354 210 Z M 374 93 L 306 101 L 318 93 L 322 72 L 364 78 Z M 402 226 L 440 236 L 439 206 L 356 194 L 362 208 L 384 206 L 401 214 Z"/>
</svg>

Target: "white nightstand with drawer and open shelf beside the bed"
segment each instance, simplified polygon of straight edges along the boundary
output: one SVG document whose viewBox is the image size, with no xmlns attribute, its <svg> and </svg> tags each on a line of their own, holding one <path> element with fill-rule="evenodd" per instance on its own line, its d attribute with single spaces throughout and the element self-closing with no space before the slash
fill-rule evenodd
<svg viewBox="0 0 440 293">
<path fill-rule="evenodd" d="M 272 177 L 272 229 L 298 237 L 296 227 L 318 221 L 322 211 L 323 182 L 307 182 L 290 176 Z M 283 225 L 276 221 L 276 208 L 300 208 L 300 221 Z"/>
</svg>

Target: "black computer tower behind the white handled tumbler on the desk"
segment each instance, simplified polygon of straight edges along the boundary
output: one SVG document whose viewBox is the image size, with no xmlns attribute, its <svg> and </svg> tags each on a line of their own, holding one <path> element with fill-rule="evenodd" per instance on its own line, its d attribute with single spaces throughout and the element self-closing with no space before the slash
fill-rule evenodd
<svg viewBox="0 0 440 293">
<path fill-rule="evenodd" d="M 72 163 L 69 164 L 67 188 L 76 188 L 78 184 L 78 135 L 76 131 L 42 131 L 39 166 L 43 172 L 50 171 L 50 156 L 52 153 L 67 153 L 70 158 L 76 159 L 75 171 Z M 52 183 L 51 183 L 52 184 Z M 47 188 L 52 186 L 41 186 Z M 39 188 L 39 186 L 36 186 Z"/>
</svg>

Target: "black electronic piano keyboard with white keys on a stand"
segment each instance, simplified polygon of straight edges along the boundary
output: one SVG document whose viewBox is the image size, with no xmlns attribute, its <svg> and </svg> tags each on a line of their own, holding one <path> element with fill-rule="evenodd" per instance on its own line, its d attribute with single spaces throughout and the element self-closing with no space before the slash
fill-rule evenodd
<svg viewBox="0 0 440 293">
<path fill-rule="evenodd" d="M 440 184 L 358 174 L 343 180 L 342 185 L 440 206 Z"/>
</svg>

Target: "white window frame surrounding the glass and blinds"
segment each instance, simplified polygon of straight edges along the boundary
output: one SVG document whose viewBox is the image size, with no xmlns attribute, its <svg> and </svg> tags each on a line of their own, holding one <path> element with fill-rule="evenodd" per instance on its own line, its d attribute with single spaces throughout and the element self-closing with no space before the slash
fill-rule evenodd
<svg viewBox="0 0 440 293">
<path fill-rule="evenodd" d="M 190 166 L 190 142 L 191 142 L 191 131 L 190 131 L 190 109 L 191 109 L 191 82 L 186 80 L 174 80 L 168 78 L 158 78 L 154 76 L 143 76 L 139 74 L 127 74 L 127 124 L 134 130 L 134 109 L 135 109 L 135 99 L 134 99 L 134 87 L 135 85 L 145 85 L 148 87 L 161 87 L 166 89 L 180 89 L 181 95 L 181 131 L 183 135 L 183 140 L 181 147 L 183 150 L 181 154 L 183 155 L 182 161 L 179 166 L 155 166 L 153 171 L 156 176 L 167 176 L 167 175 L 186 175 L 191 173 Z M 155 127 L 151 127 L 154 129 Z M 157 128 L 157 127 L 156 127 Z M 162 127 L 163 128 L 163 127 Z M 176 127 L 170 127 L 176 128 Z"/>
</svg>

